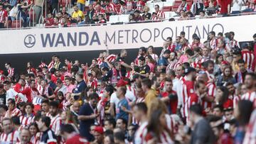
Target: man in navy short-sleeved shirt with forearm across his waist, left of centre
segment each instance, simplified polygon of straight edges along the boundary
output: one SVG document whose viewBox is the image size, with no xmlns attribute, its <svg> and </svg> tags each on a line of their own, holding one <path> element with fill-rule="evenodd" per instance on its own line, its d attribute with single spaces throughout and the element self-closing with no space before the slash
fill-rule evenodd
<svg viewBox="0 0 256 144">
<path fill-rule="evenodd" d="M 93 139 L 93 135 L 90 133 L 90 126 L 95 123 L 97 116 L 99 116 L 96 111 L 98 99 L 99 96 L 97 93 L 90 94 L 89 103 L 82 105 L 78 113 L 78 120 L 80 121 L 80 135 L 87 138 L 89 141 Z"/>
</svg>

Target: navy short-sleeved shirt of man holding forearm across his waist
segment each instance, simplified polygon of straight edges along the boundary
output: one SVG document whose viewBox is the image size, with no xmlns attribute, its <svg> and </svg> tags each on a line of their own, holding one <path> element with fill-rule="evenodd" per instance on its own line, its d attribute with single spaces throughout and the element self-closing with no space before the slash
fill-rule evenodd
<svg viewBox="0 0 256 144">
<path fill-rule="evenodd" d="M 79 116 L 90 116 L 94 113 L 92 107 L 90 104 L 86 103 L 82 105 L 80 108 L 80 111 L 78 113 Z M 95 122 L 94 119 L 88 119 L 84 121 L 80 121 L 80 135 L 82 137 L 87 138 L 87 140 L 91 141 L 93 138 L 93 135 L 90 134 L 90 126 Z"/>
</svg>

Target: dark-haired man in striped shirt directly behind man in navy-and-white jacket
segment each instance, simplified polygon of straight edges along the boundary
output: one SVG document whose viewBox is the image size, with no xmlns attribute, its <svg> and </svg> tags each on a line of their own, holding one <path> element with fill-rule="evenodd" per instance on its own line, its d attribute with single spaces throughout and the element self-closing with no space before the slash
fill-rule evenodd
<svg viewBox="0 0 256 144">
<path fill-rule="evenodd" d="M 60 136 L 61 118 L 58 113 L 58 102 L 50 101 L 50 128 L 56 136 Z"/>
</svg>

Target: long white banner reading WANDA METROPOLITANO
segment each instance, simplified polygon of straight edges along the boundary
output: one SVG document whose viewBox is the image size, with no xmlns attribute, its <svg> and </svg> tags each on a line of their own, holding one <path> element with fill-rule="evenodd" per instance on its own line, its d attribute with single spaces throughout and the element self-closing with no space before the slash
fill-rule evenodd
<svg viewBox="0 0 256 144">
<path fill-rule="evenodd" d="M 205 18 L 188 21 L 133 23 L 111 26 L 84 26 L 72 28 L 33 28 L 1 31 L 1 54 L 31 52 L 65 52 L 129 49 L 153 45 L 161 47 L 167 37 L 175 39 L 181 31 L 191 39 L 198 34 L 206 40 L 210 31 L 235 32 L 235 39 L 247 41 L 255 33 L 256 15 L 225 18 Z M 246 33 L 246 34 L 245 34 Z M 18 35 L 17 35 L 18 34 Z M 11 43 L 14 42 L 15 43 Z"/>
</svg>

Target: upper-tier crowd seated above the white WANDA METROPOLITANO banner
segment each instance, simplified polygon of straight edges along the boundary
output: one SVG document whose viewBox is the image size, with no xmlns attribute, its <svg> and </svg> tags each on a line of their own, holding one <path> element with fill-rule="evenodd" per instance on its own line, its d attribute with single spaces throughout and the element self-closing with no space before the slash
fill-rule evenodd
<svg viewBox="0 0 256 144">
<path fill-rule="evenodd" d="M 256 11 L 255 0 L 176 1 L 180 1 L 177 3 L 178 6 L 173 6 L 167 11 L 174 11 L 176 16 L 182 19 L 195 16 L 207 18 L 213 14 L 229 16 L 230 14 Z M 91 0 L 87 6 L 85 3 L 87 3 L 85 0 L 1 0 L 0 28 L 9 28 L 10 23 L 16 23 L 14 26 L 11 25 L 15 28 L 35 26 L 36 23 L 57 27 L 107 23 L 110 16 L 122 14 L 129 14 L 129 22 L 132 23 L 169 19 L 165 16 L 164 7 L 160 8 L 158 4 L 155 4 L 154 8 L 149 8 L 146 6 L 146 0 Z M 247 8 L 242 10 L 242 6 L 247 6 Z M 150 9 L 154 9 L 154 12 L 149 13 Z M 169 21 L 174 21 L 174 18 L 170 18 Z"/>
</svg>

